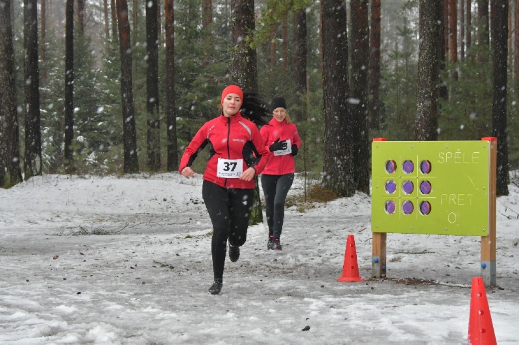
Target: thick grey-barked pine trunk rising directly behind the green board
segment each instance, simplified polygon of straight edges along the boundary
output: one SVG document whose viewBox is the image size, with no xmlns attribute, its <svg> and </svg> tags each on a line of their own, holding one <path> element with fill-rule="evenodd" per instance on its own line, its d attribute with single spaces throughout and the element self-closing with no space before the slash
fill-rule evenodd
<svg viewBox="0 0 519 345">
<path fill-rule="evenodd" d="M 415 140 L 438 140 L 438 98 L 443 0 L 420 0 L 420 44 Z"/>
</svg>

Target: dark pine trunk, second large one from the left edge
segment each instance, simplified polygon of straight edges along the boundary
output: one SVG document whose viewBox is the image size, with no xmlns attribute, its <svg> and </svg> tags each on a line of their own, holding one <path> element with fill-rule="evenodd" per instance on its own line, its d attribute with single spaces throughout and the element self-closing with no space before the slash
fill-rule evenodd
<svg viewBox="0 0 519 345">
<path fill-rule="evenodd" d="M 25 94 L 25 180 L 42 175 L 42 134 L 39 111 L 37 1 L 23 2 L 23 50 Z"/>
</svg>

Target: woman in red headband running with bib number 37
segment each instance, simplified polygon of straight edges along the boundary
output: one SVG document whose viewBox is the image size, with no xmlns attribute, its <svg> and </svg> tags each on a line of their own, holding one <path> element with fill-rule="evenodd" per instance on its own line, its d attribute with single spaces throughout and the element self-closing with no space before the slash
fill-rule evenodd
<svg viewBox="0 0 519 345">
<path fill-rule="evenodd" d="M 222 290 L 227 240 L 229 259 L 236 262 L 240 246 L 247 239 L 247 227 L 254 198 L 254 175 L 260 174 L 268 161 L 268 151 L 256 124 L 264 124 L 265 113 L 246 111 L 253 109 L 253 97 L 243 98 L 237 85 L 229 85 L 222 92 L 222 112 L 219 117 L 202 125 L 184 151 L 180 173 L 193 177 L 191 168 L 197 154 L 211 144 L 206 170 L 203 174 L 202 197 L 206 204 L 213 237 L 214 282 L 209 293 L 217 295 Z M 248 119 L 244 118 L 247 116 Z"/>
</svg>

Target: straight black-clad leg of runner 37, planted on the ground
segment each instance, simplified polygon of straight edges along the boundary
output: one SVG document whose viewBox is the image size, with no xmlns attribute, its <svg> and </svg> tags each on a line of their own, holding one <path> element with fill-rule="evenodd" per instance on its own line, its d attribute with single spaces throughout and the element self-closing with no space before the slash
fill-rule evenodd
<svg viewBox="0 0 519 345">
<path fill-rule="evenodd" d="M 211 254 L 213 257 L 214 279 L 222 279 L 225 253 L 227 251 L 227 238 L 229 237 L 230 200 L 225 188 L 205 180 L 202 184 L 202 197 L 213 224 Z"/>
</svg>

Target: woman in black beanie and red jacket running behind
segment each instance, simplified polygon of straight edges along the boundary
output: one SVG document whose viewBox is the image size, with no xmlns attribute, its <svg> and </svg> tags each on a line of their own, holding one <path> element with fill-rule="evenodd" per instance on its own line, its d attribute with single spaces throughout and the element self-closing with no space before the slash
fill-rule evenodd
<svg viewBox="0 0 519 345">
<path fill-rule="evenodd" d="M 267 249 L 281 250 L 284 204 L 294 181 L 294 156 L 301 147 L 297 127 L 286 113 L 286 103 L 281 97 L 272 98 L 270 103 L 273 118 L 261 128 L 265 147 L 269 148 L 269 161 L 261 175 L 265 195 L 268 224 Z"/>
</svg>

